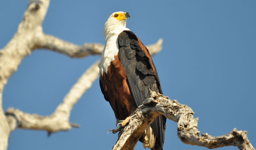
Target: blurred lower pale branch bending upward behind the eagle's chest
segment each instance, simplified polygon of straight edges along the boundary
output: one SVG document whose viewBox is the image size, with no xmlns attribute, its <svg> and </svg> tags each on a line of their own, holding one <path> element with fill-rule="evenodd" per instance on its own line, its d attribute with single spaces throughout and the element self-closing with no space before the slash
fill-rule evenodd
<svg viewBox="0 0 256 150">
<path fill-rule="evenodd" d="M 72 127 L 79 125 L 70 123 L 69 117 L 74 104 L 81 98 L 83 93 L 89 89 L 95 79 L 98 78 L 98 61 L 96 61 L 73 85 L 71 90 L 65 96 L 63 102 L 59 104 L 51 116 L 39 116 L 37 114 L 23 113 L 14 108 L 9 108 L 6 115 L 9 121 L 11 131 L 15 128 L 46 130 L 48 133 L 67 131 Z M 15 119 L 13 119 L 16 117 Z M 19 125 L 17 124 L 19 122 Z"/>
</svg>

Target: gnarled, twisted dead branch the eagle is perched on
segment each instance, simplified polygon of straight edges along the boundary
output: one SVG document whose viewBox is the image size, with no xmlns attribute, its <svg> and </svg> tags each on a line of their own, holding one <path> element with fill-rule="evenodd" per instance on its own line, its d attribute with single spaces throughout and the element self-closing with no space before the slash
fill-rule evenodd
<svg viewBox="0 0 256 150">
<path fill-rule="evenodd" d="M 229 134 L 214 137 L 202 134 L 197 130 L 198 118 L 194 119 L 193 110 L 187 105 L 171 101 L 168 97 L 151 92 L 150 98 L 143 102 L 142 106 L 134 112 L 130 122 L 120 131 L 114 150 L 134 149 L 146 127 L 150 125 L 158 115 L 178 122 L 178 137 L 185 144 L 204 146 L 209 149 L 223 146 L 237 146 L 241 150 L 255 150 L 247 137 L 247 131 L 237 131 L 236 128 Z"/>
</svg>

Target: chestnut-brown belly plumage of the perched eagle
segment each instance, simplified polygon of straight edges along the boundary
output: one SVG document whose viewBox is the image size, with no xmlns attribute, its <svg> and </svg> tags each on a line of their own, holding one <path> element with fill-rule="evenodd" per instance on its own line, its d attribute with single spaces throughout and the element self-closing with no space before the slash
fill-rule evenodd
<svg viewBox="0 0 256 150">
<path fill-rule="evenodd" d="M 105 99 L 109 101 L 116 119 L 124 120 L 135 111 L 136 103 L 118 55 L 115 56 L 114 61 L 111 61 L 108 74 L 104 72 L 103 76 L 100 76 L 100 85 L 104 97 L 108 95 L 108 100 L 106 97 Z"/>
</svg>

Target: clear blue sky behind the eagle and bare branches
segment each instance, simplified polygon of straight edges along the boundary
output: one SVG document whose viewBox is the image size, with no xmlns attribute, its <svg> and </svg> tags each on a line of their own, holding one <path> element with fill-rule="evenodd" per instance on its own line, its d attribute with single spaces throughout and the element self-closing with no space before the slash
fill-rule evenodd
<svg viewBox="0 0 256 150">
<path fill-rule="evenodd" d="M 0 2 L 0 49 L 13 37 L 28 0 Z M 219 136 L 233 128 L 248 131 L 256 147 L 256 1 L 51 1 L 46 34 L 75 44 L 104 44 L 103 25 L 116 11 L 131 14 L 130 28 L 147 45 L 164 39 L 153 57 L 164 95 L 193 109 L 198 130 Z M 3 107 L 50 115 L 71 86 L 100 56 L 72 59 L 36 50 L 11 76 Z M 8 150 L 111 149 L 115 116 L 98 80 L 75 105 L 70 121 L 81 125 L 47 137 L 45 131 L 17 129 Z M 206 149 L 183 144 L 176 123 L 166 123 L 164 149 Z M 142 150 L 139 142 L 137 150 Z M 237 149 L 233 146 L 221 149 Z"/>
</svg>

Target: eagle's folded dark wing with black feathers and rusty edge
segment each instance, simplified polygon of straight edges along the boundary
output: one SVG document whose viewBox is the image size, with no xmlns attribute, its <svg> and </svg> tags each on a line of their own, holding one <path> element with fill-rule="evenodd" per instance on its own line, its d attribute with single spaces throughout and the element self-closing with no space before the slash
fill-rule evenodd
<svg viewBox="0 0 256 150">
<path fill-rule="evenodd" d="M 149 97 L 149 89 L 162 94 L 157 70 L 148 52 L 139 38 L 131 31 L 123 31 L 119 34 L 119 59 L 126 69 L 127 79 L 135 99 L 137 107 Z M 157 140 L 155 148 L 160 149 L 164 144 L 166 118 L 158 116 L 151 124 Z"/>
</svg>

